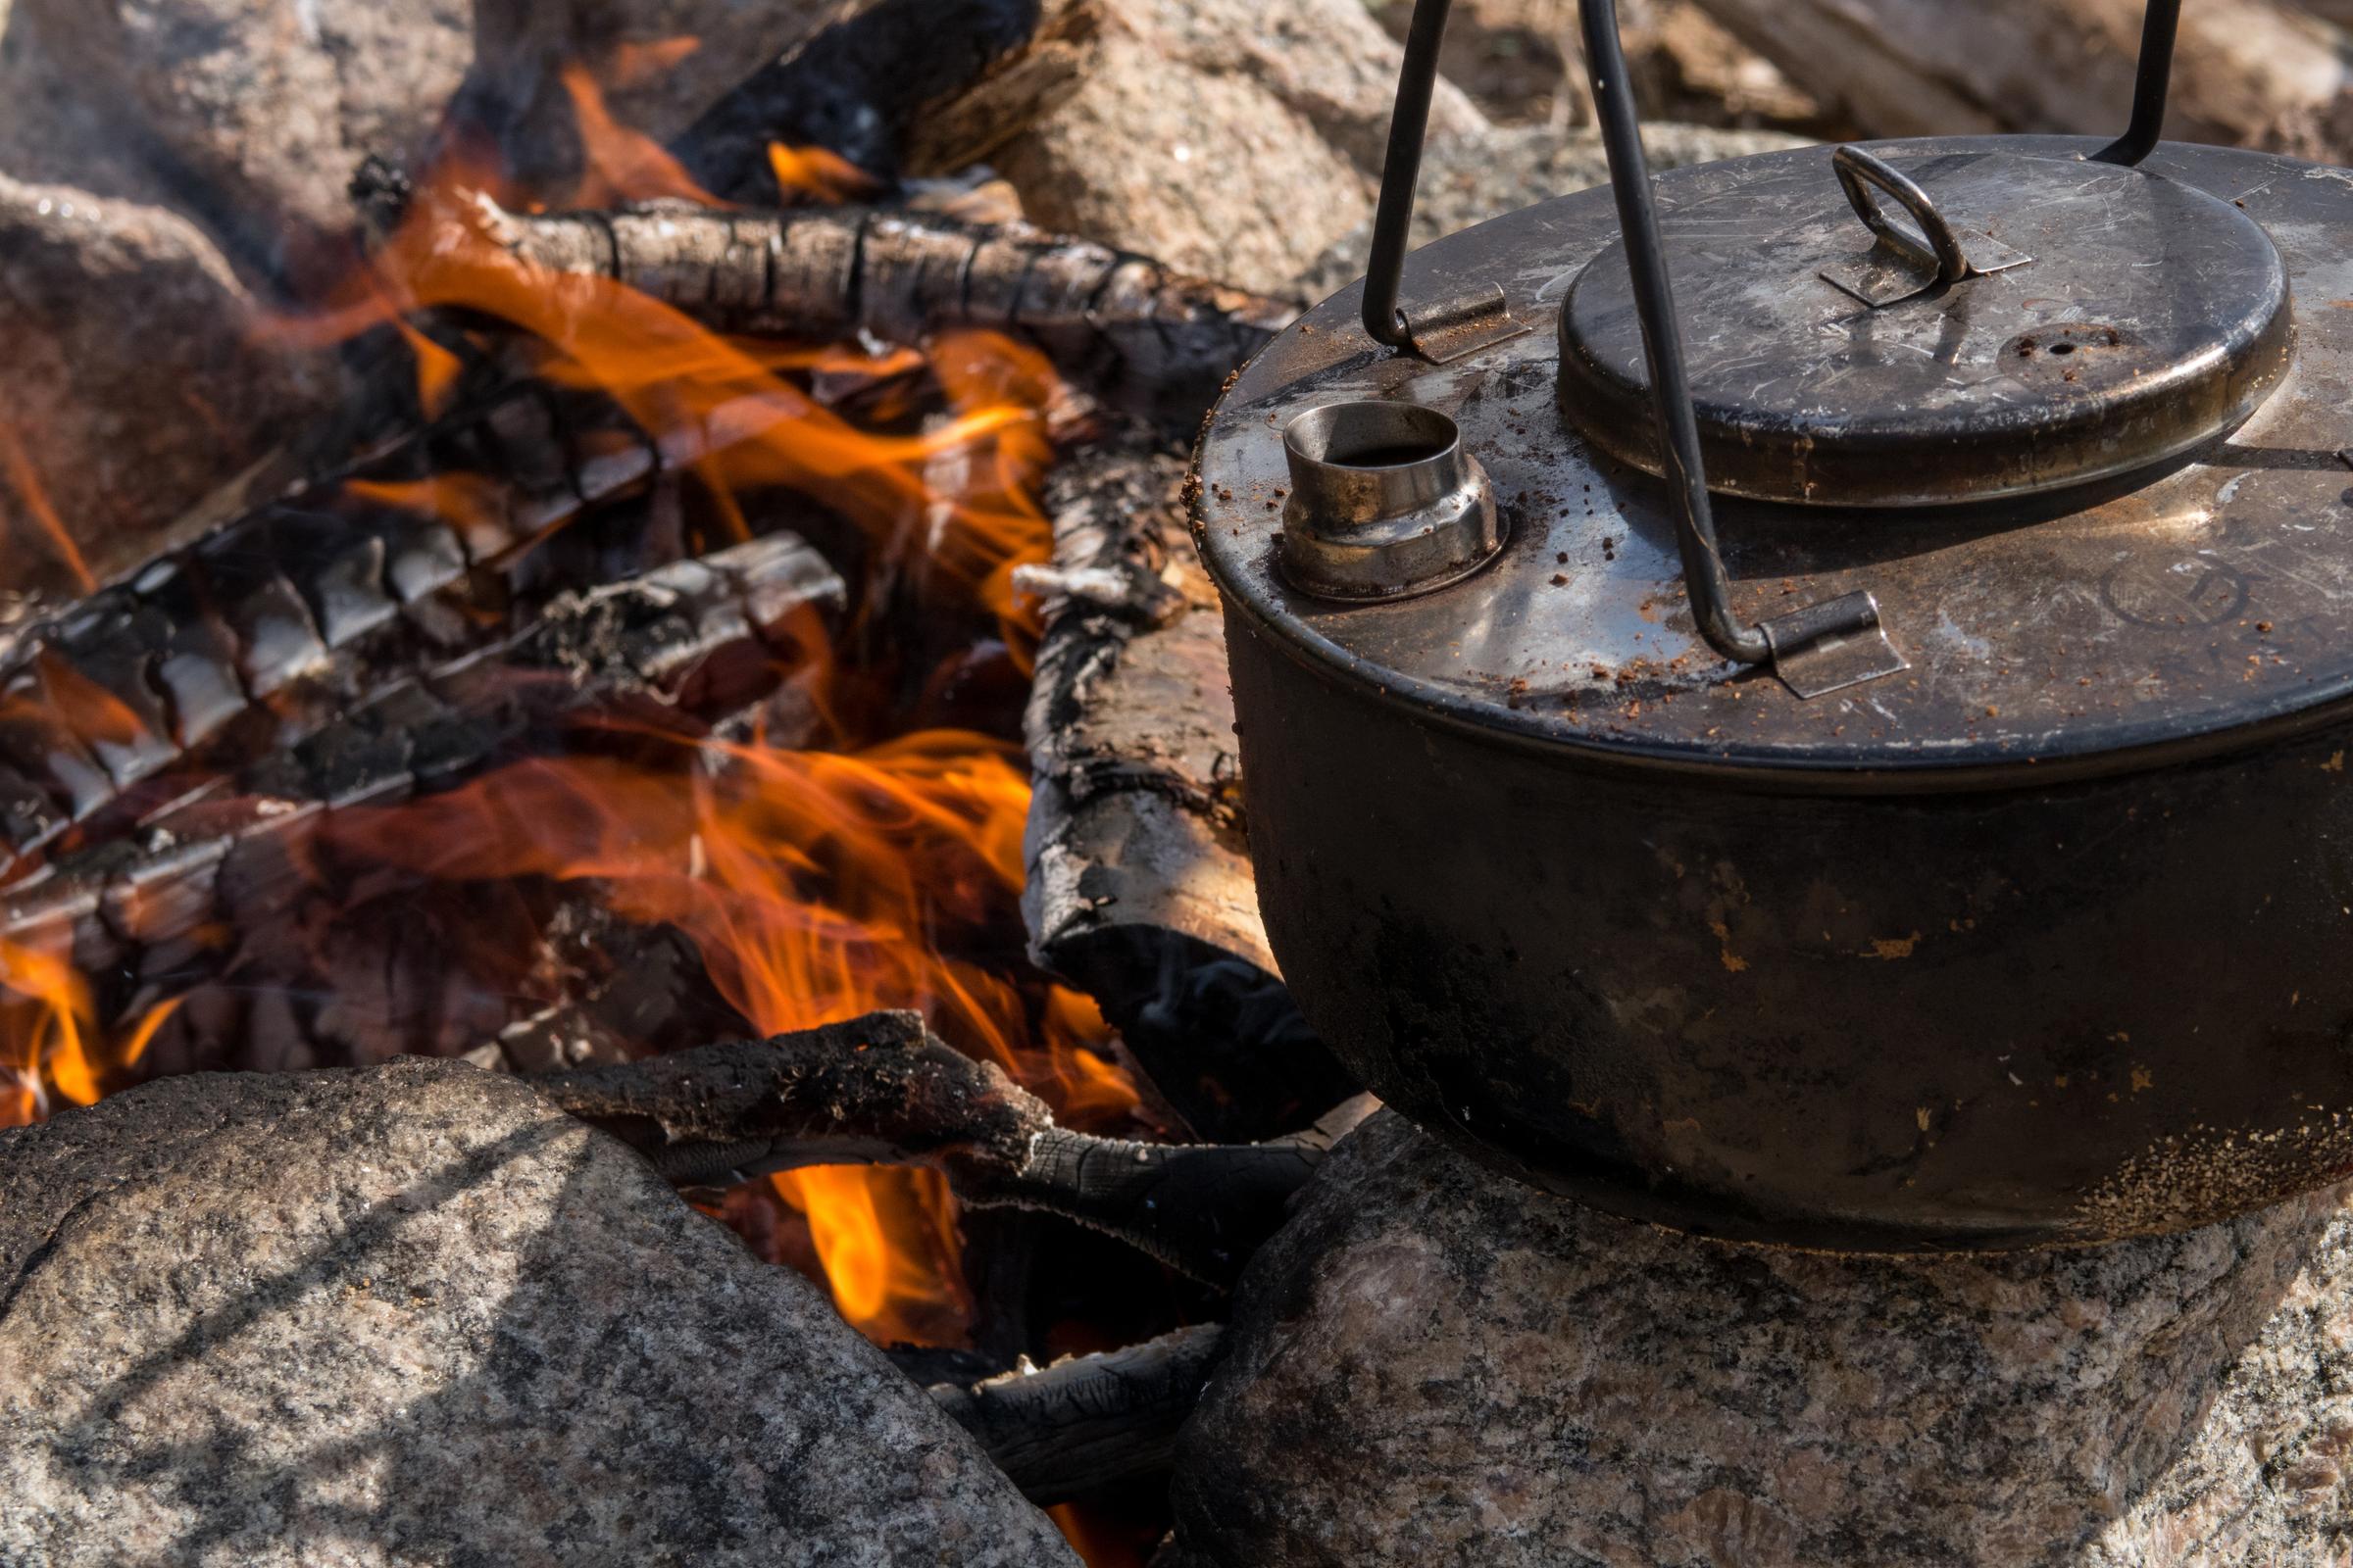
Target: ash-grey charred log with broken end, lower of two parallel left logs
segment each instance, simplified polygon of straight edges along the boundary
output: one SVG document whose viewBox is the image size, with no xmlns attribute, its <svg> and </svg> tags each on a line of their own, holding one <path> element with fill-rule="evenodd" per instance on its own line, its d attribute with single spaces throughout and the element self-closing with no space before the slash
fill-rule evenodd
<svg viewBox="0 0 2353 1568">
<path fill-rule="evenodd" d="M 798 665 L 800 623 L 840 611 L 842 597 L 833 569 L 791 534 L 560 595 L 496 656 L 405 677 L 285 752 L 155 813 L 139 837 L 45 867 L 0 905 L 0 940 L 71 947 L 85 973 L 120 976 L 139 994 L 162 985 L 176 994 L 226 973 L 292 983 L 315 954 L 289 910 L 313 886 L 306 867 L 320 858 L 318 835 L 334 811 L 445 790 L 522 752 L 614 743 L 584 722 L 628 717 L 638 733 L 694 738 L 706 717 L 741 710 Z M 659 966 L 659 940 L 635 940 L 647 943 L 647 961 L 614 980 L 616 994 L 595 999 L 588 1020 L 562 1011 L 536 1020 L 541 1032 L 518 1034 L 513 1058 L 579 1060 L 555 1051 L 593 1020 L 642 1027 L 638 1048 L 664 1044 L 671 1037 L 647 1013 L 661 994 L 673 1023 L 708 1023 L 708 1011 L 687 1006 L 692 990 L 664 992 L 664 976 L 689 987 L 680 954 Z M 191 1013 L 169 1030 L 202 1025 Z M 233 1058 L 245 1060 L 242 1051 Z"/>
</svg>

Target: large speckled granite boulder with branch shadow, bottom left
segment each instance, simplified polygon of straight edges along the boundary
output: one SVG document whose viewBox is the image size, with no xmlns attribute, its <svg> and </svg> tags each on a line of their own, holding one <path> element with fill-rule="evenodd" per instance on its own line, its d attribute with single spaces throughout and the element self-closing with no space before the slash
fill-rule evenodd
<svg viewBox="0 0 2353 1568">
<path fill-rule="evenodd" d="M 1075 1563 L 798 1274 L 513 1079 L 0 1133 L 0 1563 Z"/>
</svg>

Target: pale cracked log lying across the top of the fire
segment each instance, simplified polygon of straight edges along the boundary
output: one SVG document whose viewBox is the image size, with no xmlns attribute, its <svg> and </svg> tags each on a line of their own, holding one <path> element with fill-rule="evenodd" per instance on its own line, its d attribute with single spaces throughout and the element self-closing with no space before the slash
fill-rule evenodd
<svg viewBox="0 0 2353 1568">
<path fill-rule="evenodd" d="M 1285 301 L 1146 256 L 927 212 L 645 202 L 515 214 L 475 197 L 466 216 L 513 256 L 614 277 L 720 331 L 809 341 L 864 331 L 892 343 L 951 327 L 1014 331 L 1066 376 L 1188 430 L 1233 367 L 1294 315 Z"/>
</svg>

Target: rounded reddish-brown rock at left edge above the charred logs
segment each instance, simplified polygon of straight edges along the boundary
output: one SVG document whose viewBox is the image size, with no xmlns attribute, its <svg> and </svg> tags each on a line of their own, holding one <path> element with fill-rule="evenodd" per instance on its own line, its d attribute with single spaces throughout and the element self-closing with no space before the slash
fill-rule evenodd
<svg viewBox="0 0 2353 1568">
<path fill-rule="evenodd" d="M 78 585 L 42 505 L 106 576 L 318 407 L 332 386 L 325 367 L 249 329 L 252 301 L 186 219 L 0 174 L 9 588 Z"/>
</svg>

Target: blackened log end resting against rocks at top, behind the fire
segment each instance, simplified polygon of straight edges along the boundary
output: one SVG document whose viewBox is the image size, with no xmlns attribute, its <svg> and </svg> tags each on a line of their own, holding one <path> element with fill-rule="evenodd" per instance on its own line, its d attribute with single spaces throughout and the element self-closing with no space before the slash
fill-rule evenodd
<svg viewBox="0 0 2353 1568">
<path fill-rule="evenodd" d="M 880 0 L 753 73 L 671 143 L 732 202 L 774 200 L 769 143 L 894 181 L 986 158 L 1078 85 L 1094 0 Z"/>
</svg>

